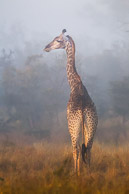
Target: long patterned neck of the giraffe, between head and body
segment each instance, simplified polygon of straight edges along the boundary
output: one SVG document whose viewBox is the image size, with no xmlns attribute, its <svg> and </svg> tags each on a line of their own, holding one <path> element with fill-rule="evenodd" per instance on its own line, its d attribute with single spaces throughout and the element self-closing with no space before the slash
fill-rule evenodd
<svg viewBox="0 0 129 194">
<path fill-rule="evenodd" d="M 78 75 L 75 67 L 75 45 L 73 40 L 68 41 L 66 46 L 67 53 L 67 79 L 70 85 L 71 91 L 81 82 L 80 76 Z"/>
</svg>

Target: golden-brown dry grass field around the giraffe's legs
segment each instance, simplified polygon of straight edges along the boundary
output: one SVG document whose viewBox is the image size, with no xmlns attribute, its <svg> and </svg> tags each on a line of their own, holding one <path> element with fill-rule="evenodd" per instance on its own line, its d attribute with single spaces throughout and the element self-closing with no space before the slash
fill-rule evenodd
<svg viewBox="0 0 129 194">
<path fill-rule="evenodd" d="M 94 143 L 90 170 L 73 173 L 71 144 L 0 145 L 0 194 L 128 194 L 129 145 Z"/>
</svg>

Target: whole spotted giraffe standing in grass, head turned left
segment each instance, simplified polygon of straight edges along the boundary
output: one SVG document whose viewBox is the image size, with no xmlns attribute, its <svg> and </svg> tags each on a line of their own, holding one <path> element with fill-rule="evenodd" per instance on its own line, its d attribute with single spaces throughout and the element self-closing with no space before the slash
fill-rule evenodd
<svg viewBox="0 0 129 194">
<path fill-rule="evenodd" d="M 67 79 L 70 86 L 70 98 L 67 104 L 68 129 L 71 136 L 75 172 L 80 174 L 80 155 L 82 160 L 90 166 L 91 148 L 97 129 L 98 116 L 96 107 L 89 96 L 75 67 L 75 44 L 66 30 L 54 38 L 44 50 L 65 49 L 67 54 Z M 80 136 L 82 131 L 82 148 Z"/>
</svg>

